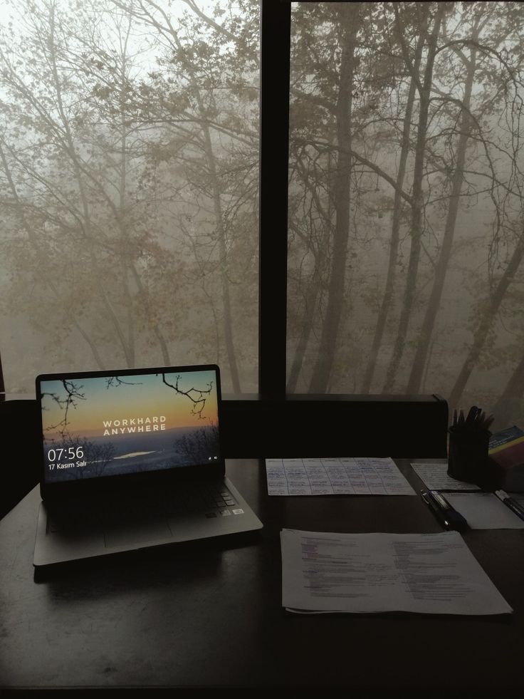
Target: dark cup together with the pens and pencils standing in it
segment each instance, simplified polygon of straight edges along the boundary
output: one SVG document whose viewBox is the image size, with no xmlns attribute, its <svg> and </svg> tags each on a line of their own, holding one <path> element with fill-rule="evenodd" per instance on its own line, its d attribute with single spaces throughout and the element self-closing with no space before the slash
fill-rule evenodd
<svg viewBox="0 0 524 699">
<path fill-rule="evenodd" d="M 457 480 L 491 490 L 496 487 L 495 472 L 488 456 L 489 427 L 493 415 L 473 405 L 465 416 L 454 411 L 449 428 L 448 474 Z"/>
</svg>

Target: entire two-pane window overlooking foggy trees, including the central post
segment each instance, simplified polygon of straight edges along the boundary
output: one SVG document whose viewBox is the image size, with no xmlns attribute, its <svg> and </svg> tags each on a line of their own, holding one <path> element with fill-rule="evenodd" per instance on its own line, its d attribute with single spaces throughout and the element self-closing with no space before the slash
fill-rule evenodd
<svg viewBox="0 0 524 699">
<path fill-rule="evenodd" d="M 217 361 L 524 422 L 523 4 L 1 1 L 8 390 Z"/>
</svg>

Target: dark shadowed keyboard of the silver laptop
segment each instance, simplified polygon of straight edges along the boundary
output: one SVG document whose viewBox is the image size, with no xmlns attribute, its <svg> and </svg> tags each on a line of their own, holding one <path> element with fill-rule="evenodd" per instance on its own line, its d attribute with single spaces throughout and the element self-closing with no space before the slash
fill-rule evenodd
<svg viewBox="0 0 524 699">
<path fill-rule="evenodd" d="M 61 532 L 66 527 L 91 529 L 121 522 L 137 522 L 158 517 L 176 517 L 180 514 L 199 514 L 211 517 L 227 517 L 238 507 L 224 482 L 182 483 L 167 487 L 161 493 L 155 491 L 124 492 L 93 504 L 76 501 L 53 508 L 48 515 L 48 532 Z M 238 512 L 238 511 L 237 511 Z"/>
</svg>

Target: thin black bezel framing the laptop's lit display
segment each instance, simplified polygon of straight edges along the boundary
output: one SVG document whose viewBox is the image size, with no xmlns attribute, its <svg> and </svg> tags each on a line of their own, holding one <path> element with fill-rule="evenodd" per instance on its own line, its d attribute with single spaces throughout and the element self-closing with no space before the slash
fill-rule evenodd
<svg viewBox="0 0 524 699">
<path fill-rule="evenodd" d="M 111 376 L 143 376 L 145 374 L 156 373 L 177 373 L 189 371 L 214 371 L 216 376 L 216 407 L 217 419 L 219 422 L 219 459 L 210 464 L 194 464 L 191 466 L 180 466 L 169 470 L 142 471 L 138 473 L 127 473 L 115 476 L 102 476 L 98 478 L 86 478 L 85 480 L 70 480 L 63 482 L 48 483 L 45 481 L 46 473 L 46 450 L 43 440 L 43 416 L 41 405 L 41 384 L 45 381 L 56 380 L 78 380 L 88 378 L 106 378 Z M 116 492 L 136 487 L 169 485 L 170 483 L 184 480 L 208 480 L 209 478 L 220 478 L 225 475 L 224 451 L 221 438 L 221 381 L 220 369 L 217 364 L 187 364 L 179 366 L 145 367 L 135 369 L 111 369 L 104 371 L 72 371 L 61 373 L 44 373 L 36 377 L 36 398 L 40 413 L 40 454 L 41 463 L 39 467 L 40 494 L 42 499 L 64 499 L 78 497 L 80 495 L 92 495 L 97 492 Z"/>
</svg>

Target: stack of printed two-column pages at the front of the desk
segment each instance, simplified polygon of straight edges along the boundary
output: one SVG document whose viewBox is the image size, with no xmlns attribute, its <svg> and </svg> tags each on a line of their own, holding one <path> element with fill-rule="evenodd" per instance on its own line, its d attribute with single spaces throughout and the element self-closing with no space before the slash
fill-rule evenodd
<svg viewBox="0 0 524 699">
<path fill-rule="evenodd" d="M 288 611 L 503 614 L 503 599 L 458 532 L 333 534 L 283 529 Z"/>
</svg>

